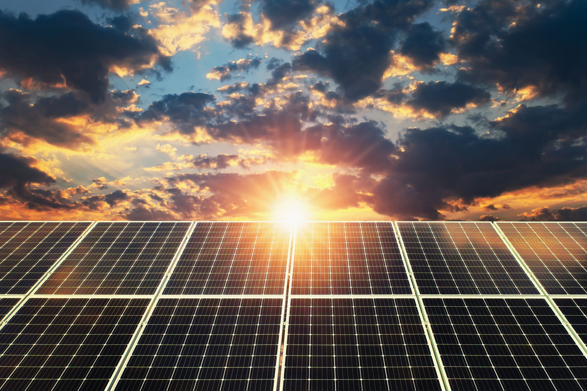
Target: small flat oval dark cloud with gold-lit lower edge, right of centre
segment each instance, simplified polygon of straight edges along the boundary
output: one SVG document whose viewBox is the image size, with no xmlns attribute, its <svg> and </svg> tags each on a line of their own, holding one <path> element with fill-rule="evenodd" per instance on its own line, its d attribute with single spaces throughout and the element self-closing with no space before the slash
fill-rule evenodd
<svg viewBox="0 0 587 391">
<path fill-rule="evenodd" d="M 437 81 L 419 84 L 406 102 L 416 110 L 425 110 L 435 117 L 443 118 L 453 109 L 465 108 L 467 104 L 481 106 L 489 103 L 491 94 L 479 87 L 456 82 Z"/>
</svg>

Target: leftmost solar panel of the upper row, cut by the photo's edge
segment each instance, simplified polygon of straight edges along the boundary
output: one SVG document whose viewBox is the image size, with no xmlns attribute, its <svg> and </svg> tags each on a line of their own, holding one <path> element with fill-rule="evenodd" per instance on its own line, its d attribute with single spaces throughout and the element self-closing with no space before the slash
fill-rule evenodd
<svg viewBox="0 0 587 391">
<path fill-rule="evenodd" d="M 90 222 L 2 222 L 0 294 L 26 294 Z"/>
</svg>

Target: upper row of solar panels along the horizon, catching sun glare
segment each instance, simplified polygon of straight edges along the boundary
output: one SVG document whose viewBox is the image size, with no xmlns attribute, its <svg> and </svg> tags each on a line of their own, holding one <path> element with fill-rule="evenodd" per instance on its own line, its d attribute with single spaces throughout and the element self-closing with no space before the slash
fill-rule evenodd
<svg viewBox="0 0 587 391">
<path fill-rule="evenodd" d="M 90 225 L 0 222 L 0 294 L 27 294 L 43 279 L 35 294 L 153 295 L 192 223 Z M 413 294 L 408 268 L 420 294 L 540 294 L 531 276 L 547 294 L 587 294 L 587 223 L 399 222 L 397 229 L 197 223 L 163 294 L 284 294 L 291 248 L 296 295 Z"/>
</svg>

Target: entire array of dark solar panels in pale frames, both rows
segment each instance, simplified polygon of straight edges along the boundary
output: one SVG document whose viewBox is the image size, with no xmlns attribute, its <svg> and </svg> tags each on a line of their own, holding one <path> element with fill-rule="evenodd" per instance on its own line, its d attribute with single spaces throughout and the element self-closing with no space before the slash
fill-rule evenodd
<svg viewBox="0 0 587 391">
<path fill-rule="evenodd" d="M 587 390 L 586 233 L 0 222 L 0 390 Z"/>
</svg>

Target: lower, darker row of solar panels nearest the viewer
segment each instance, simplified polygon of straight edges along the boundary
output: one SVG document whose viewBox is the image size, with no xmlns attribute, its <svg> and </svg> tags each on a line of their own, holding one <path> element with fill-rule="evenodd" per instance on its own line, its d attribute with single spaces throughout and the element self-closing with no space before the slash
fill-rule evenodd
<svg viewBox="0 0 587 391">
<path fill-rule="evenodd" d="M 160 297 L 131 344 L 151 300 L 26 299 L 0 332 L 0 390 L 587 387 L 587 357 L 545 298 L 429 297 L 424 322 L 415 298 L 290 297 L 279 385 L 284 298 Z M 587 342 L 587 299 L 555 302 Z"/>
</svg>

